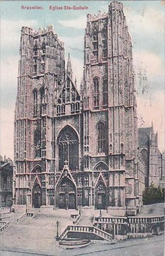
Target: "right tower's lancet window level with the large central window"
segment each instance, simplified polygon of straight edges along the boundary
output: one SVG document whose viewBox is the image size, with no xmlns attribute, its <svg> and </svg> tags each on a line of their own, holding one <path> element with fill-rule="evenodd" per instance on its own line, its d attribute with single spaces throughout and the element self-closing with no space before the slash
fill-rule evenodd
<svg viewBox="0 0 165 256">
<path fill-rule="evenodd" d="M 100 121 L 97 124 L 97 143 L 98 143 L 98 153 L 105 152 L 106 149 L 106 129 L 105 124 Z"/>
</svg>

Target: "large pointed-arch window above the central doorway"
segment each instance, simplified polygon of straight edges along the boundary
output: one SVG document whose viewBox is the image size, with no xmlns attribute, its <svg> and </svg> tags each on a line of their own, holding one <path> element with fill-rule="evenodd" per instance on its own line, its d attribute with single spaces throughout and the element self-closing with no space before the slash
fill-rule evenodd
<svg viewBox="0 0 165 256">
<path fill-rule="evenodd" d="M 76 132 L 67 125 L 58 139 L 58 169 L 62 170 L 65 160 L 70 170 L 79 168 L 79 140 Z"/>
</svg>

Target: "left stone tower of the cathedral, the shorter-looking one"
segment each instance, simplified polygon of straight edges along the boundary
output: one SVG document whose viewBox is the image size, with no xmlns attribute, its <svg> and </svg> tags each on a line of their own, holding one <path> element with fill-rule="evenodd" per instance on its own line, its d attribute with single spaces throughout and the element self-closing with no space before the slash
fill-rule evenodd
<svg viewBox="0 0 165 256">
<path fill-rule="evenodd" d="M 38 206 L 53 201 L 54 191 L 51 187 L 47 189 L 48 181 L 54 184 L 51 118 L 64 81 L 64 43 L 59 41 L 52 25 L 39 31 L 23 27 L 14 123 L 17 205 L 32 205 L 35 196 Z"/>
</svg>

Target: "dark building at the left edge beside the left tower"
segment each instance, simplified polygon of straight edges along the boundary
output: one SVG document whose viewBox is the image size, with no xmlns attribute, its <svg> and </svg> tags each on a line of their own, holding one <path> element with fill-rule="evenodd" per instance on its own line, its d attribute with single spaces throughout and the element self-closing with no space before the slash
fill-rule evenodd
<svg viewBox="0 0 165 256">
<path fill-rule="evenodd" d="M 0 207 L 12 205 L 13 162 L 0 156 Z"/>
</svg>

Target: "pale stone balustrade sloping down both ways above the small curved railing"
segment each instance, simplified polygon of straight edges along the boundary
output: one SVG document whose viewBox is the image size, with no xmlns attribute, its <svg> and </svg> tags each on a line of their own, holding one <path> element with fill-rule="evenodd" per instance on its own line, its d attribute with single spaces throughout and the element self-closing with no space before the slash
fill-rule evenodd
<svg viewBox="0 0 165 256">
<path fill-rule="evenodd" d="M 104 240 L 112 242 L 112 234 L 109 234 L 99 228 L 89 227 L 89 226 L 68 226 L 60 235 L 59 239 L 63 239 L 68 232 L 84 232 L 84 233 L 94 233 L 95 235 L 101 237 Z"/>
</svg>

